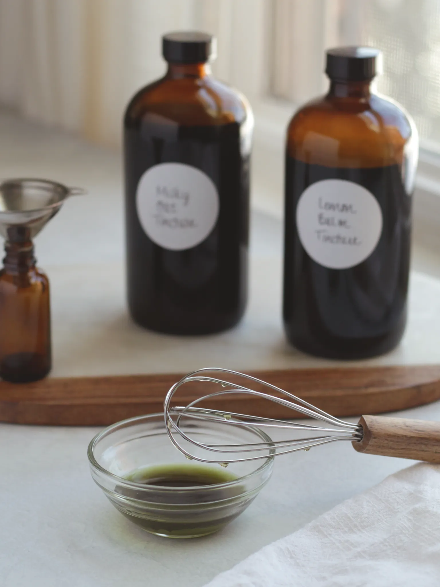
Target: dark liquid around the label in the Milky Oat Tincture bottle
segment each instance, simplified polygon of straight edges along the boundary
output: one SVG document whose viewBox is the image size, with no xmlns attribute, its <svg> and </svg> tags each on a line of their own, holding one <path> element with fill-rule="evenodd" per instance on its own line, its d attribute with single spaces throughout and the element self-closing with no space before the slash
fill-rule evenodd
<svg viewBox="0 0 440 587">
<path fill-rule="evenodd" d="M 154 113 L 126 121 L 128 305 L 145 328 L 204 334 L 235 325 L 245 310 L 249 157 L 238 123 L 182 126 Z M 182 163 L 215 184 L 219 215 L 204 241 L 185 250 L 155 244 L 143 230 L 136 191 L 148 168 Z M 177 186 L 163 185 L 165 193 Z"/>
</svg>

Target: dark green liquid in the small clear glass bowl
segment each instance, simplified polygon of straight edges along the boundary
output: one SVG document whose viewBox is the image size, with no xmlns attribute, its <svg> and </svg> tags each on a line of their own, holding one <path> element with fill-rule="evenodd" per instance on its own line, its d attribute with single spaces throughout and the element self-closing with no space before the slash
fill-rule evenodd
<svg viewBox="0 0 440 587">
<path fill-rule="evenodd" d="M 157 465 L 132 471 L 125 478 L 148 485 L 151 490 L 146 494 L 136 488 L 119 488 L 126 502 L 115 502 L 116 507 L 134 524 L 157 535 L 191 538 L 212 534 L 236 518 L 244 507 L 244 488 L 240 485 L 222 490 L 210 488 L 236 480 L 233 473 L 221 468 Z M 136 500 L 136 508 L 130 507 L 131 500 Z M 144 507 L 140 505 L 142 501 Z M 137 515 L 133 515 L 135 509 Z"/>
</svg>

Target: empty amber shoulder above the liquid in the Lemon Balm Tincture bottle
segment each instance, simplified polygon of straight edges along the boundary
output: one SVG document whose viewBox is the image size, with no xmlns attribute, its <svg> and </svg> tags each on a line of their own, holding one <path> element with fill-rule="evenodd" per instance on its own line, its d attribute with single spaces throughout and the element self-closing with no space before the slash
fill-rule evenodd
<svg viewBox="0 0 440 587">
<path fill-rule="evenodd" d="M 401 164 L 409 143 L 418 145 L 411 116 L 378 94 L 365 100 L 319 97 L 304 104 L 287 129 L 290 156 L 331 167 Z"/>
</svg>

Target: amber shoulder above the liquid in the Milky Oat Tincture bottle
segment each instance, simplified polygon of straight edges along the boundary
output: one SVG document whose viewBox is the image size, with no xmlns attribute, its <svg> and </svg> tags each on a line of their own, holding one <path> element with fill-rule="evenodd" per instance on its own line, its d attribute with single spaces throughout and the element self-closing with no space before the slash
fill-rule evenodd
<svg viewBox="0 0 440 587">
<path fill-rule="evenodd" d="M 124 123 L 136 126 L 149 114 L 187 126 L 241 124 L 252 118 L 252 109 L 245 96 L 215 77 L 165 76 L 137 92 Z"/>
</svg>

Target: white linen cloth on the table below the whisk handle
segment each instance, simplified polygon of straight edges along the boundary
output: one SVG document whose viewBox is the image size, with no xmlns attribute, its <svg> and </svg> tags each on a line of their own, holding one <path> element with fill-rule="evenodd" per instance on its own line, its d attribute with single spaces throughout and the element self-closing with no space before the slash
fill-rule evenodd
<svg viewBox="0 0 440 587">
<path fill-rule="evenodd" d="M 265 546 L 206 587 L 439 585 L 440 465 L 419 463 Z"/>
</svg>

